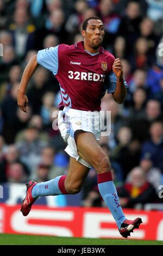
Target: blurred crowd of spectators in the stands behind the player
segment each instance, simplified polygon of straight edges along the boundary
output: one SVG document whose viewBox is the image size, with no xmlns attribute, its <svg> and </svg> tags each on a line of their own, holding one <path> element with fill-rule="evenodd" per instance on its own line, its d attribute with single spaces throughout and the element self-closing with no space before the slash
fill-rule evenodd
<svg viewBox="0 0 163 256">
<path fill-rule="evenodd" d="M 163 184 L 163 1 L 0 0 L 0 182 L 37 182 L 66 174 L 69 158 L 53 129 L 59 84 L 41 66 L 30 79 L 28 113 L 17 106 L 17 88 L 38 50 L 83 40 L 83 20 L 98 16 L 105 25 L 103 47 L 122 60 L 129 90 L 118 105 L 111 94 L 111 134 L 100 144 L 109 155 L 123 207 L 159 203 Z M 162 44 L 162 45 L 161 45 Z M 1 45 L 1 46 L 2 46 Z M 162 49 L 161 49 L 162 47 Z M 102 206 L 91 169 L 83 206 Z"/>
</svg>

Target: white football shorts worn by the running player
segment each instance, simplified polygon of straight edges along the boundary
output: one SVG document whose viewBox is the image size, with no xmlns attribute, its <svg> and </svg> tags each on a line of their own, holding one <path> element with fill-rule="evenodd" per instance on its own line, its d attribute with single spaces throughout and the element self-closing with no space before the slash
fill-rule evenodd
<svg viewBox="0 0 163 256">
<path fill-rule="evenodd" d="M 84 130 L 85 132 L 93 133 L 96 140 L 99 140 L 101 135 L 100 112 L 82 111 L 65 107 L 64 110 L 59 111 L 58 128 L 62 138 L 68 144 L 65 148 L 67 154 L 76 158 L 79 163 L 91 168 L 91 165 L 78 154 L 74 132 L 76 130 Z"/>
</svg>

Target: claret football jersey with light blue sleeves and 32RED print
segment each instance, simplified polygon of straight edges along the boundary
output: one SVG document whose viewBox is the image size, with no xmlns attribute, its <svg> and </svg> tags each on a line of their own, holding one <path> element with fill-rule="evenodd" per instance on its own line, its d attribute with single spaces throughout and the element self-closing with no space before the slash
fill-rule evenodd
<svg viewBox="0 0 163 256">
<path fill-rule="evenodd" d="M 108 93 L 115 91 L 114 60 L 102 46 L 98 53 L 87 52 L 83 41 L 37 52 L 37 62 L 53 72 L 60 84 L 60 106 L 84 111 L 100 111 L 106 90 Z M 124 85 L 127 87 L 126 81 Z"/>
</svg>

